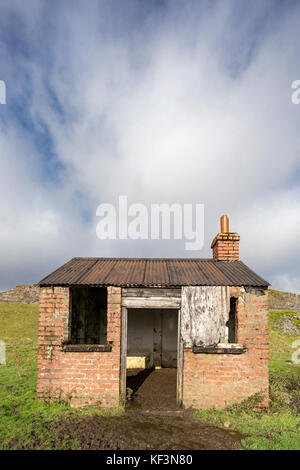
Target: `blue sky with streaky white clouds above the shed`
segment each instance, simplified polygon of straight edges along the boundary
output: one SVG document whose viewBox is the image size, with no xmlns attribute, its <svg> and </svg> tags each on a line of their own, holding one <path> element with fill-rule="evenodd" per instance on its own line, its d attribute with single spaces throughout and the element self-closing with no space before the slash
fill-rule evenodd
<svg viewBox="0 0 300 470">
<path fill-rule="evenodd" d="M 293 1 L 0 0 L 0 290 L 73 256 L 210 257 L 227 213 L 300 292 L 299 23 Z M 99 240 L 119 195 L 204 204 L 203 249 Z"/>
</svg>

